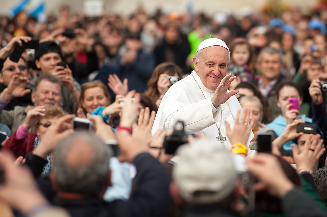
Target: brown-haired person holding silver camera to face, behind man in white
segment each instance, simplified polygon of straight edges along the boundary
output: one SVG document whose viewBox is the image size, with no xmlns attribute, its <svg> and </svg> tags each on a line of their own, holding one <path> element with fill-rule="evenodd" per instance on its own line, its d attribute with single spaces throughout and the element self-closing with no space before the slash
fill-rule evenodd
<svg viewBox="0 0 327 217">
<path fill-rule="evenodd" d="M 174 78 L 169 79 L 168 76 L 174 76 Z M 147 84 L 149 89 L 145 94 L 151 98 L 153 104 L 159 107 L 167 90 L 177 80 L 181 80 L 181 78 L 182 70 L 179 66 L 170 62 L 161 63 L 153 70 L 152 76 Z M 172 82 L 170 80 L 172 80 Z"/>
</svg>

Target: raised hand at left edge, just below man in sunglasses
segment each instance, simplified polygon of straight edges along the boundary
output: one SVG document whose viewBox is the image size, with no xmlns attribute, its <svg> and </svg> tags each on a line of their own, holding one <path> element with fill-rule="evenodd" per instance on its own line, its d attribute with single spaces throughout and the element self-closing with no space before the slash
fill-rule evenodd
<svg viewBox="0 0 327 217">
<path fill-rule="evenodd" d="M 25 96 L 27 93 L 31 92 L 30 89 L 26 89 L 28 84 L 29 80 L 27 77 L 15 75 L 8 87 L 1 93 L 1 100 L 9 102 L 15 97 Z"/>
</svg>

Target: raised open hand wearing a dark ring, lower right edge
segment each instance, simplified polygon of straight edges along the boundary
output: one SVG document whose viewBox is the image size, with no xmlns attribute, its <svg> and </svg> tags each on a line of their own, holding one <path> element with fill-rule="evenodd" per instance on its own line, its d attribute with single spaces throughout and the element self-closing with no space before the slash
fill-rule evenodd
<svg viewBox="0 0 327 217">
<path fill-rule="evenodd" d="M 320 139 L 320 135 L 310 135 L 310 137 L 305 141 L 304 147 L 301 153 L 299 153 L 299 147 L 296 145 L 291 145 L 293 158 L 295 164 L 298 167 L 299 172 L 311 172 L 313 167 L 318 162 L 320 156 L 324 153 L 325 147 L 323 140 Z"/>
</svg>

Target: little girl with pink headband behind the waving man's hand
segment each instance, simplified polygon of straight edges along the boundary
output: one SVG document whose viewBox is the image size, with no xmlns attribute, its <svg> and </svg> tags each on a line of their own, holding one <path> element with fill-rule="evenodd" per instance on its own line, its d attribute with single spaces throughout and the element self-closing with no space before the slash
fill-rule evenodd
<svg viewBox="0 0 327 217">
<path fill-rule="evenodd" d="M 248 41 L 242 38 L 234 39 L 231 45 L 231 64 L 227 72 L 239 77 L 243 82 L 251 82 L 254 78 L 253 60 L 254 51 Z"/>
</svg>

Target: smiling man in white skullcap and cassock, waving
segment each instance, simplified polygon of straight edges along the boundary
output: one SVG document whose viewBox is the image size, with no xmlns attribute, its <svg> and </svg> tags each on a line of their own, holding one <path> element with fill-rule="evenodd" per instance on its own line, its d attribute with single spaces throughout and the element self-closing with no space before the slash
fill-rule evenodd
<svg viewBox="0 0 327 217">
<path fill-rule="evenodd" d="M 172 85 L 163 96 L 152 133 L 158 129 L 171 130 L 176 121 L 182 120 L 186 131 L 204 133 L 229 150 L 232 144 L 227 137 L 225 121 L 233 127 L 237 110 L 241 109 L 234 96 L 238 90 L 228 91 L 235 79 L 231 74 L 226 75 L 230 64 L 229 48 L 221 39 L 206 39 L 198 46 L 193 63 L 195 70 Z M 248 154 L 251 152 L 248 150 Z"/>
</svg>

